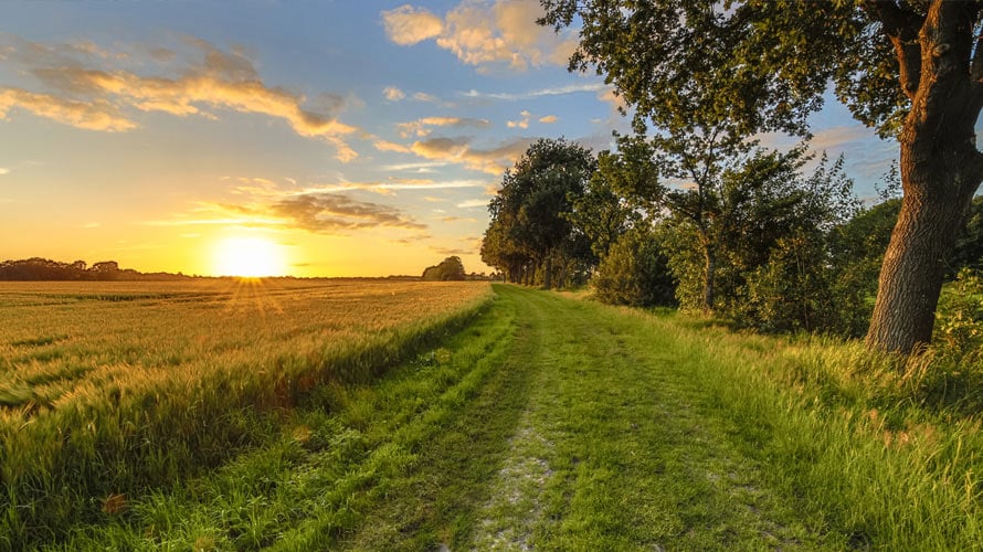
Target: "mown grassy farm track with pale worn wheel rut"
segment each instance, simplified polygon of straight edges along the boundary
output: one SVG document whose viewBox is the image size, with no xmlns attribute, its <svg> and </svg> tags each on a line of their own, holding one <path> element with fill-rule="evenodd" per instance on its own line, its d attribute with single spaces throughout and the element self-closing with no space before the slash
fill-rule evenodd
<svg viewBox="0 0 983 552">
<path fill-rule="evenodd" d="M 654 352 L 666 338 L 641 332 L 632 316 L 598 316 L 594 304 L 497 293 L 519 325 L 499 370 L 419 450 L 416 484 L 346 546 L 822 548 L 774 521 L 789 512 L 759 467 L 694 406 L 705 397 L 685 363 Z"/>
</svg>

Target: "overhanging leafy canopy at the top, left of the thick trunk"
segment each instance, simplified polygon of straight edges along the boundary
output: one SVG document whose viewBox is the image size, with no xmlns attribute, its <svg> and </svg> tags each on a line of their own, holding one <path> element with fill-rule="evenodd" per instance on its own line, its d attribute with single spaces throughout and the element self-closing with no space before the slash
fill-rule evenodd
<svg viewBox="0 0 983 552">
<path fill-rule="evenodd" d="M 891 2 L 894 3 L 894 2 Z M 850 1 L 543 0 L 541 24 L 581 23 L 571 70 L 605 75 L 663 129 L 688 114 L 728 132 L 803 134 L 827 84 L 863 123 L 894 134 L 908 99 L 877 10 Z M 921 10 L 919 2 L 902 2 Z"/>
</svg>

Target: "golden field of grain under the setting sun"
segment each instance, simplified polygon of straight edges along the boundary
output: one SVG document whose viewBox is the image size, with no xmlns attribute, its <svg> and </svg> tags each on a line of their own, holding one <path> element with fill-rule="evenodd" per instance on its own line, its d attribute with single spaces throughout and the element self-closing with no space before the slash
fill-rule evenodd
<svg viewBox="0 0 983 552">
<path fill-rule="evenodd" d="M 0 549 L 222 463 L 490 298 L 480 283 L 0 283 Z"/>
</svg>

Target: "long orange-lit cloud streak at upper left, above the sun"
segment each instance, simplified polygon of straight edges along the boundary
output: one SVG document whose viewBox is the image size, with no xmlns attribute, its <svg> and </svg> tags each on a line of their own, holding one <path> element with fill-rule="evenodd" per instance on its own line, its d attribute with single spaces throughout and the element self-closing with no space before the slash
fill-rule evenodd
<svg viewBox="0 0 983 552">
<path fill-rule="evenodd" d="M 187 42 L 198 60 L 181 68 L 180 76 L 170 78 L 93 66 L 85 59 L 54 65 L 52 60 L 64 61 L 64 49 L 21 41 L 20 59 L 28 72 L 56 95 L 0 87 L 0 118 L 18 107 L 78 128 L 125 131 L 136 128 L 137 123 L 123 115 L 123 108 L 210 118 L 216 116 L 205 108 L 229 109 L 283 119 L 298 136 L 331 144 L 338 159 L 357 157 L 343 139 L 357 129 L 337 117 L 345 98 L 321 94 L 308 102 L 300 94 L 266 85 L 253 62 L 237 49 L 223 52 L 199 39 Z M 83 57 L 94 51 L 83 49 Z"/>
</svg>

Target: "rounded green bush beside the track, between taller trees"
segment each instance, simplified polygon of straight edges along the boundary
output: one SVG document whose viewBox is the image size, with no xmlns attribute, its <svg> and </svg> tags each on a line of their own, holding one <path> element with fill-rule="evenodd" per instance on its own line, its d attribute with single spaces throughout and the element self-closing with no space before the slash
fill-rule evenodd
<svg viewBox="0 0 983 552">
<path fill-rule="evenodd" d="M 654 232 L 635 226 L 611 246 L 591 278 L 603 302 L 635 307 L 674 306 L 676 282 Z"/>
</svg>

